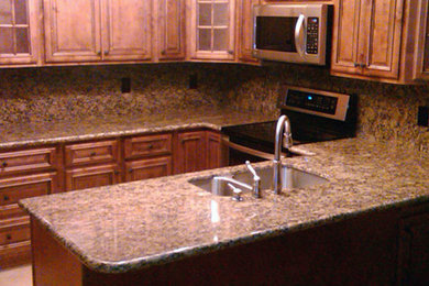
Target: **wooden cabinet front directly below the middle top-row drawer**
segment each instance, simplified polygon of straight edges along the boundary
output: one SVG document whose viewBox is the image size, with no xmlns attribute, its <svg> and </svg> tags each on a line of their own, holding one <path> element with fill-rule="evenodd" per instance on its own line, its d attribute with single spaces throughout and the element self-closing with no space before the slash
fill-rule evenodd
<svg viewBox="0 0 429 286">
<path fill-rule="evenodd" d="M 66 190 L 85 189 L 120 183 L 117 165 L 101 165 L 66 170 Z"/>
</svg>

